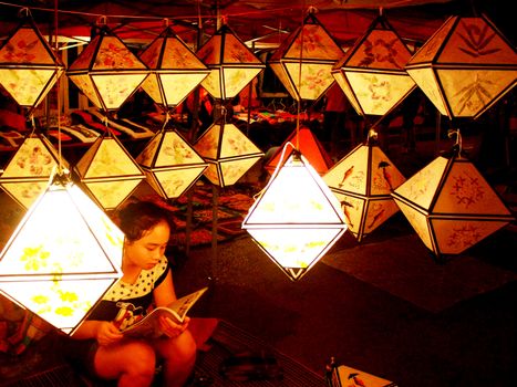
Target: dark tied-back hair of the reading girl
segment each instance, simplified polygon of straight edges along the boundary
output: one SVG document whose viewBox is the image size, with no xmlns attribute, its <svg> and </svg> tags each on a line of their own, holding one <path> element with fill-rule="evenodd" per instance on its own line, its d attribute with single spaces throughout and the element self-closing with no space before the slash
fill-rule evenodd
<svg viewBox="0 0 517 387">
<path fill-rule="evenodd" d="M 118 211 L 118 228 L 128 241 L 141 239 L 144 233 L 162 221 L 167 222 L 170 231 L 174 222 L 169 212 L 152 201 L 134 201 Z"/>
</svg>

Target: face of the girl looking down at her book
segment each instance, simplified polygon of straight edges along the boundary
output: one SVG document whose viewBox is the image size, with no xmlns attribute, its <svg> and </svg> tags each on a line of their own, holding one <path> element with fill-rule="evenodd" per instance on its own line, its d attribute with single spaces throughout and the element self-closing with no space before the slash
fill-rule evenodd
<svg viewBox="0 0 517 387">
<path fill-rule="evenodd" d="M 145 270 L 153 269 L 165 253 L 170 228 L 162 221 L 146 231 L 141 239 L 125 243 L 124 257 L 128 263 Z"/>
</svg>

